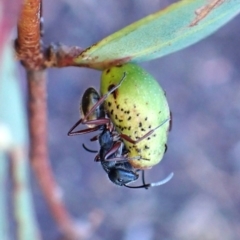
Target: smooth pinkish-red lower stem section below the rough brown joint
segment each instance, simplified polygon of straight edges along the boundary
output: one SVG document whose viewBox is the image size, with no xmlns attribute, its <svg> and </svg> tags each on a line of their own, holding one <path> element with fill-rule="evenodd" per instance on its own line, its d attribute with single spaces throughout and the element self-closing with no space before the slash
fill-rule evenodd
<svg viewBox="0 0 240 240">
<path fill-rule="evenodd" d="M 46 73 L 44 70 L 27 72 L 29 91 L 29 127 L 31 137 L 30 158 L 35 176 L 47 200 L 54 219 L 61 230 L 70 239 L 78 236 L 61 198 L 51 171 L 47 150 L 47 104 L 46 104 Z"/>
</svg>

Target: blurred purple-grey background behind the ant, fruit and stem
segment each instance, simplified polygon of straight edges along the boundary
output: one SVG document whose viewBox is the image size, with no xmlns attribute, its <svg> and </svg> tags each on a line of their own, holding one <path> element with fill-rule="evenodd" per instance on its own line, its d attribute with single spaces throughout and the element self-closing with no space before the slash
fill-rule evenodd
<svg viewBox="0 0 240 240">
<path fill-rule="evenodd" d="M 172 2 L 43 1 L 44 43 L 85 48 Z M 166 90 L 173 114 L 168 151 L 147 181 L 175 176 L 149 190 L 113 185 L 82 148 L 99 148 L 92 135 L 67 136 L 84 90 L 99 88 L 101 72 L 49 70 L 50 159 L 69 212 L 86 227 L 89 218 L 102 219 L 94 240 L 240 239 L 240 16 L 200 43 L 141 66 Z M 32 178 L 43 239 L 59 239 Z"/>
</svg>

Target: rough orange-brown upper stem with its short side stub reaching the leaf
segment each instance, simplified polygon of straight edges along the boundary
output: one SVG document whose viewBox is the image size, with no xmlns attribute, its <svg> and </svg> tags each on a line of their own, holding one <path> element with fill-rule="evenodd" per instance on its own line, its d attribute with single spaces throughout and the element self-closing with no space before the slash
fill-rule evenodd
<svg viewBox="0 0 240 240">
<path fill-rule="evenodd" d="M 18 38 L 15 41 L 17 58 L 31 70 L 49 67 L 77 66 L 74 59 L 83 49 L 65 45 L 51 45 L 42 49 L 41 0 L 25 0 L 18 21 Z"/>
</svg>

